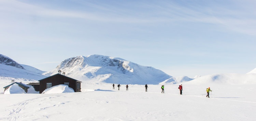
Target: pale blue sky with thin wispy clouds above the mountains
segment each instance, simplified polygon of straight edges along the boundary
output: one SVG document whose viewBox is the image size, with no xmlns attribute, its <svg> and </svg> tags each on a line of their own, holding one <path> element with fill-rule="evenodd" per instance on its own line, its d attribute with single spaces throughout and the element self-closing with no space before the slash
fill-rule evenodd
<svg viewBox="0 0 256 121">
<path fill-rule="evenodd" d="M 43 71 L 92 54 L 171 76 L 256 68 L 254 0 L 1 0 L 0 54 Z"/>
</svg>

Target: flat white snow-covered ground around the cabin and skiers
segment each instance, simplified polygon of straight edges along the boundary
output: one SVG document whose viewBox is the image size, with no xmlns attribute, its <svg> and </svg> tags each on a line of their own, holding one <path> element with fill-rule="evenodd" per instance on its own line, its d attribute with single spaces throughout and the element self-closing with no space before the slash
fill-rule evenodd
<svg viewBox="0 0 256 121">
<path fill-rule="evenodd" d="M 200 77 L 201 78 L 201 77 Z M 198 79 L 200 79 L 198 78 Z M 205 78 L 202 78 L 203 80 Z M 17 82 L 22 81 L 16 79 Z M 22 81 L 29 83 L 31 81 Z M 0 88 L 9 85 L 2 79 Z M 198 80 L 178 85 L 125 85 L 83 82 L 82 92 L 55 94 L 3 94 L 3 121 L 253 121 L 256 119 L 256 84 L 228 84 Z M 211 87 L 211 98 L 206 88 Z"/>
</svg>

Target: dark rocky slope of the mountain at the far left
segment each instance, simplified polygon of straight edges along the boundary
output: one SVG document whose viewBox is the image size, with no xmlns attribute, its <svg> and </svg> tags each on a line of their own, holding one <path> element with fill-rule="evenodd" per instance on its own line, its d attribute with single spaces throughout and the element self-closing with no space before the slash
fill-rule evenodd
<svg viewBox="0 0 256 121">
<path fill-rule="evenodd" d="M 13 59 L 0 54 L 0 64 L 8 65 L 8 66 L 13 66 L 16 68 L 24 69 L 21 65 L 19 65 L 17 62 L 15 62 Z"/>
</svg>

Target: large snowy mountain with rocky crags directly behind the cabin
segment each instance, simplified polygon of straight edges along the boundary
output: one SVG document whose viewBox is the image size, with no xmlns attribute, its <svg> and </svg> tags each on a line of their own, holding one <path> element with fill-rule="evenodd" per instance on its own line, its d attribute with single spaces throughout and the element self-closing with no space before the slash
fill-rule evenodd
<svg viewBox="0 0 256 121">
<path fill-rule="evenodd" d="M 141 66 L 122 58 L 103 55 L 68 58 L 54 70 L 43 74 L 53 75 L 58 70 L 80 81 L 103 81 L 115 84 L 159 84 L 172 77 L 153 67 Z"/>
</svg>

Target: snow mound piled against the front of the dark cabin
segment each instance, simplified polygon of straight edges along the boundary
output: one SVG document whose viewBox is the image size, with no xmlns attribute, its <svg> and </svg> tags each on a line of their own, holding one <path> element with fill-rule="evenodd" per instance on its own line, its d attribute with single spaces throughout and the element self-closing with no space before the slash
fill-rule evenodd
<svg viewBox="0 0 256 121">
<path fill-rule="evenodd" d="M 70 88 L 68 85 L 60 84 L 60 85 L 45 89 L 42 92 L 42 94 L 68 93 L 68 92 L 75 92 L 75 91 L 72 88 Z"/>
</svg>

